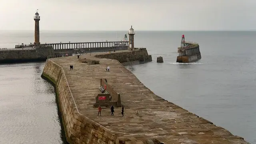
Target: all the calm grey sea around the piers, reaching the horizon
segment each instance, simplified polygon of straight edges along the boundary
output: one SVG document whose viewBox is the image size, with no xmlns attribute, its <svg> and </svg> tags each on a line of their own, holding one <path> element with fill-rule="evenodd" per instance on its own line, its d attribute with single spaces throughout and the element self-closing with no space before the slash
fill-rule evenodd
<svg viewBox="0 0 256 144">
<path fill-rule="evenodd" d="M 158 96 L 256 144 L 256 31 L 136 31 L 152 62 L 126 66 Z M 105 42 L 128 31 L 40 31 L 41 43 Z M 181 36 L 202 59 L 176 63 Z M 34 42 L 34 31 L 0 31 L 0 48 Z M 156 63 L 162 56 L 164 63 Z M 0 144 L 64 144 L 45 62 L 0 65 Z"/>
</svg>

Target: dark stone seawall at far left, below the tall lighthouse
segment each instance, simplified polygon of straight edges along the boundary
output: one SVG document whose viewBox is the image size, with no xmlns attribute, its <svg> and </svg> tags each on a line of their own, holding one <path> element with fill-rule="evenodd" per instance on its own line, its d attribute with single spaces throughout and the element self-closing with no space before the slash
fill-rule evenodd
<svg viewBox="0 0 256 144">
<path fill-rule="evenodd" d="M 47 56 L 53 54 L 51 46 L 34 49 L 0 50 L 0 63 L 45 61 Z"/>
</svg>

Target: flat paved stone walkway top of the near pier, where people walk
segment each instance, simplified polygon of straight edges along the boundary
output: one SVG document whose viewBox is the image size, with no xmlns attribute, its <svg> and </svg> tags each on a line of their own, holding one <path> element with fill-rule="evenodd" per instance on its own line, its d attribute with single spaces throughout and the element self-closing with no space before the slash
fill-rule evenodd
<svg viewBox="0 0 256 144">
<path fill-rule="evenodd" d="M 94 54 L 81 57 L 100 60 L 100 64 L 81 63 L 76 56 L 50 59 L 64 68 L 78 110 L 84 116 L 118 136 L 134 140 L 156 138 L 165 144 L 247 144 L 224 128 L 156 96 L 116 60 L 95 58 Z M 70 70 L 71 64 L 73 70 Z M 105 72 L 106 66 L 110 66 L 110 72 Z M 95 97 L 100 93 L 100 78 L 106 78 L 121 94 L 124 117 L 121 108 L 115 108 L 114 116 L 110 115 L 110 108 L 103 108 L 102 116 L 93 108 Z"/>
</svg>

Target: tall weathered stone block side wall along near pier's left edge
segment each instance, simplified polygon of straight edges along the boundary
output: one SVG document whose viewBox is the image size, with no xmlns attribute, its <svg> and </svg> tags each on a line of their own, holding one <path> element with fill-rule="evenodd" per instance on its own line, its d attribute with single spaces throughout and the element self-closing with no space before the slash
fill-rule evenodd
<svg viewBox="0 0 256 144">
<path fill-rule="evenodd" d="M 50 80 L 55 88 L 66 139 L 70 144 L 124 144 L 114 132 L 80 114 L 69 90 L 62 67 L 46 61 L 42 77 Z"/>
</svg>

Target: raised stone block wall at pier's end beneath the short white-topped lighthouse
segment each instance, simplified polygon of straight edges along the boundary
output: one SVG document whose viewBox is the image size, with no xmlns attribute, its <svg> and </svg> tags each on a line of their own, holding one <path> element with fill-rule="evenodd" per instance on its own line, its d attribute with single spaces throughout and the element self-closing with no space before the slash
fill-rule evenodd
<svg viewBox="0 0 256 144">
<path fill-rule="evenodd" d="M 109 58 L 118 60 L 120 63 L 139 61 L 139 62 L 151 62 L 151 55 L 148 55 L 146 48 L 140 48 L 139 50 L 132 50 L 128 52 L 112 52 L 111 54 L 96 55 L 97 58 Z"/>
</svg>

